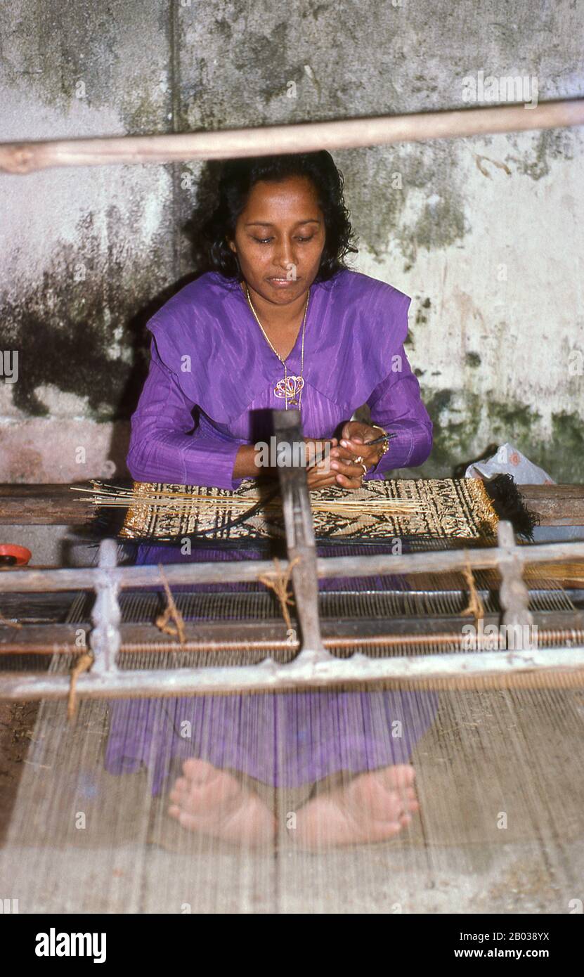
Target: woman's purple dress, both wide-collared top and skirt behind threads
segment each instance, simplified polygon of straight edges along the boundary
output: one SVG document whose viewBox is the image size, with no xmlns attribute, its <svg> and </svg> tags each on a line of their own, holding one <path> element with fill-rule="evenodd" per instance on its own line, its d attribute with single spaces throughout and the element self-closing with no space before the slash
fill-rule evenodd
<svg viewBox="0 0 584 977">
<path fill-rule="evenodd" d="M 392 285 L 351 271 L 311 288 L 303 431 L 331 438 L 358 406 L 369 404 L 372 421 L 396 438 L 365 479 L 420 465 L 432 448 L 432 421 L 403 348 L 409 303 Z M 241 480 L 232 471 L 239 446 L 269 441 L 270 410 L 284 406 L 274 393 L 283 377 L 281 363 L 240 285 L 217 273 L 203 275 L 167 302 L 148 329 L 151 360 L 132 417 L 131 475 L 141 482 L 236 488 Z M 299 335 L 286 360 L 289 374 L 300 374 L 300 356 Z M 137 563 L 185 559 L 208 560 L 209 550 L 185 557 L 179 547 L 141 546 Z M 334 585 L 343 581 L 321 581 Z M 188 756 L 274 786 L 296 787 L 338 770 L 356 773 L 407 762 L 436 708 L 433 694 L 380 691 L 118 701 L 105 765 L 123 773 L 145 764 L 154 793 L 172 761 Z M 396 728 L 399 736 L 392 735 Z"/>
</svg>

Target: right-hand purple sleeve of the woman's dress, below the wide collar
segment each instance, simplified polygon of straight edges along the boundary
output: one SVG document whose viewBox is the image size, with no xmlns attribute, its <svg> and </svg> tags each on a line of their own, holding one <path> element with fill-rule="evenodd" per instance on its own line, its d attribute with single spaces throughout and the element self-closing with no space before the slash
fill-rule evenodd
<svg viewBox="0 0 584 977">
<path fill-rule="evenodd" d="M 433 423 L 420 396 L 420 384 L 405 355 L 403 340 L 407 335 L 407 307 L 402 305 L 396 317 L 396 347 L 390 362 L 390 372 L 377 385 L 367 404 L 371 409 L 371 423 L 379 424 L 388 434 L 396 434 L 390 441 L 378 465 L 365 479 L 383 478 L 395 468 L 415 468 L 423 464 L 433 445 Z"/>
</svg>

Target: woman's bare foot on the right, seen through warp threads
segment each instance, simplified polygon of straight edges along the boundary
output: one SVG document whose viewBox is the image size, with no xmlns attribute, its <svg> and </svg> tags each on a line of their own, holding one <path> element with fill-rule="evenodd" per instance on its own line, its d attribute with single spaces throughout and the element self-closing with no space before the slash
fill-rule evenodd
<svg viewBox="0 0 584 977">
<path fill-rule="evenodd" d="M 391 838 L 419 803 L 409 764 L 360 774 L 345 786 L 323 793 L 297 813 L 297 828 L 289 833 L 307 847 L 352 845 Z"/>
</svg>

